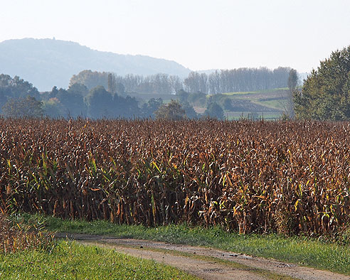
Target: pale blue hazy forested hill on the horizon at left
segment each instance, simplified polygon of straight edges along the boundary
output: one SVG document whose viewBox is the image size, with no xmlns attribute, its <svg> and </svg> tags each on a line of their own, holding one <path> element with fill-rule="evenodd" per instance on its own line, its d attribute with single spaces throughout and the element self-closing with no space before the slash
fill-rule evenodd
<svg viewBox="0 0 350 280">
<path fill-rule="evenodd" d="M 174 61 L 101 52 L 68 41 L 25 38 L 0 43 L 0 74 L 20 76 L 41 91 L 51 90 L 53 86 L 67 88 L 70 77 L 85 69 L 117 75 L 162 72 L 180 77 L 190 72 Z"/>
</svg>

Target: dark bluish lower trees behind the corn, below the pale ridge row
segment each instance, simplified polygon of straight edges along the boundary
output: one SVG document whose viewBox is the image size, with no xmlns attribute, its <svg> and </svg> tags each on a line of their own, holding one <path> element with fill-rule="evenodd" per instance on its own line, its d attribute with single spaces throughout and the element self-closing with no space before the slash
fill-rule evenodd
<svg viewBox="0 0 350 280">
<path fill-rule="evenodd" d="M 174 95 L 176 99 L 176 95 Z M 216 117 L 209 115 L 208 117 Z M 196 119 L 198 114 L 189 102 L 172 100 L 164 104 L 161 98 L 139 101 L 128 95 L 112 92 L 102 85 L 92 87 L 75 83 L 68 90 L 53 87 L 50 92 L 38 92 L 36 87 L 20 77 L 0 75 L 0 114 L 4 117 L 52 118 L 124 118 L 124 119 Z"/>
</svg>

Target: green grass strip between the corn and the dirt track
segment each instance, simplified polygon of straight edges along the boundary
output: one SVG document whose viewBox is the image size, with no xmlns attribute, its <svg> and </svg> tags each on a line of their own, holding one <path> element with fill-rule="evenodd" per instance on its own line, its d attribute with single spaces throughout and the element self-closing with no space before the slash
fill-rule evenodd
<svg viewBox="0 0 350 280">
<path fill-rule="evenodd" d="M 215 247 L 350 275 L 349 244 L 322 242 L 310 237 L 239 235 L 234 232 L 226 232 L 220 227 L 204 229 L 203 227 L 188 227 L 186 225 L 169 225 L 150 228 L 142 225 L 115 225 L 101 220 L 94 222 L 70 221 L 54 217 L 47 218 L 46 226 L 48 229 L 58 232 L 112 235 Z"/>
</svg>

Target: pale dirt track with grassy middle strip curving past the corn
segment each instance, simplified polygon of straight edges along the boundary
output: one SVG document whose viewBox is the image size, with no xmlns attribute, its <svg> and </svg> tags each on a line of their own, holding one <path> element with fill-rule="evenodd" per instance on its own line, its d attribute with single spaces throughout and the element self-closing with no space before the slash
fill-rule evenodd
<svg viewBox="0 0 350 280">
<path fill-rule="evenodd" d="M 350 276 L 334 274 L 330 271 L 287 264 L 274 259 L 250 257 L 244 254 L 235 254 L 218 249 L 168 244 L 149 240 L 119 239 L 99 235 L 61 233 L 56 235 L 56 237 L 68 237 L 83 244 L 110 247 L 118 252 L 124 252 L 134 257 L 154 259 L 156 262 L 177 267 L 201 279 L 350 279 Z M 213 258 L 229 261 L 230 263 L 216 262 Z"/>
</svg>

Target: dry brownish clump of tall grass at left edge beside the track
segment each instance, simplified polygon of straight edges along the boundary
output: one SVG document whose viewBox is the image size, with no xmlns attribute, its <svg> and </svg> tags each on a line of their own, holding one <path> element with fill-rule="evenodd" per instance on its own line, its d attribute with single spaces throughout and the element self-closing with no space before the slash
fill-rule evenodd
<svg viewBox="0 0 350 280">
<path fill-rule="evenodd" d="M 33 219 L 26 224 L 14 222 L 0 214 L 0 254 L 22 251 L 25 249 L 52 249 L 55 245 L 53 235 L 43 230 L 42 224 L 33 224 Z"/>
</svg>

